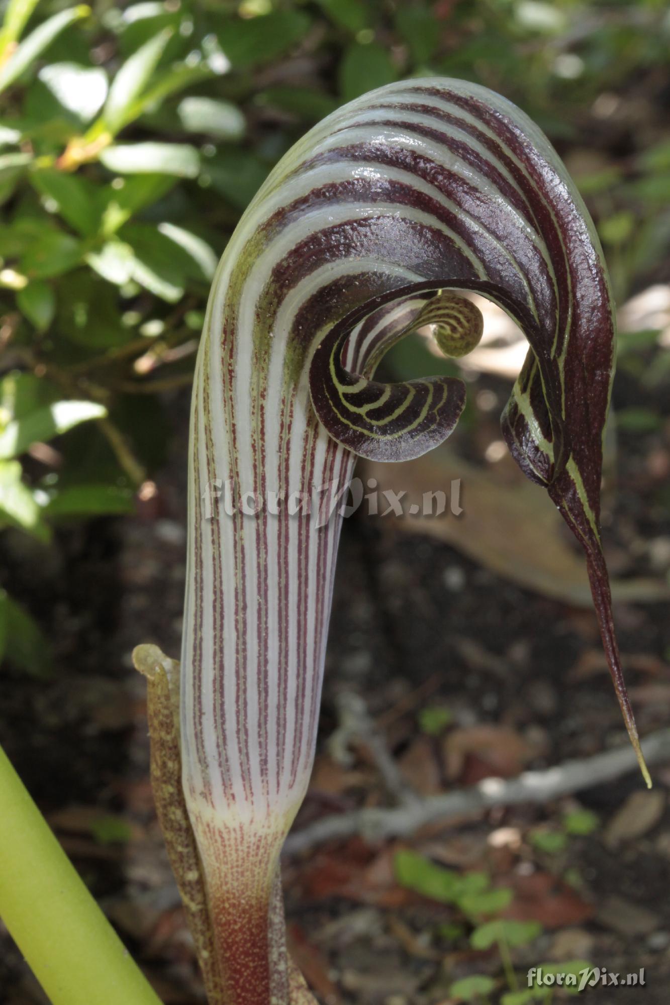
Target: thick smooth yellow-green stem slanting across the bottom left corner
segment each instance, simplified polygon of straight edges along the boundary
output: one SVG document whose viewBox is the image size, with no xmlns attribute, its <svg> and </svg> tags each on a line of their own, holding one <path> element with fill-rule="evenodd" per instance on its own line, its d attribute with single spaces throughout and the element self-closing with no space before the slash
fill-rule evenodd
<svg viewBox="0 0 670 1005">
<path fill-rule="evenodd" d="M 160 1005 L 1 748 L 0 917 L 52 1005 Z"/>
</svg>

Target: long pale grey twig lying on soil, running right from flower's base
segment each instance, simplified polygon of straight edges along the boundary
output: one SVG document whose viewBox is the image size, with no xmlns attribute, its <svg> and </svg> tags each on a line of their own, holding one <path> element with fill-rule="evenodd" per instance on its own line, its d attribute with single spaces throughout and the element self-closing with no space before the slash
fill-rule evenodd
<svg viewBox="0 0 670 1005">
<path fill-rule="evenodd" d="M 670 729 L 650 734 L 643 740 L 642 750 L 650 766 L 670 760 Z M 565 761 L 546 771 L 526 771 L 518 778 L 507 781 L 485 778 L 471 788 L 429 796 L 410 805 L 390 809 L 370 807 L 326 817 L 290 834 L 285 851 L 295 854 L 325 841 L 342 840 L 354 834 L 360 834 L 371 841 L 403 837 L 426 824 L 447 823 L 456 817 L 478 813 L 493 806 L 546 803 L 559 796 L 610 782 L 636 767 L 635 752 L 626 745 L 594 757 Z"/>
</svg>

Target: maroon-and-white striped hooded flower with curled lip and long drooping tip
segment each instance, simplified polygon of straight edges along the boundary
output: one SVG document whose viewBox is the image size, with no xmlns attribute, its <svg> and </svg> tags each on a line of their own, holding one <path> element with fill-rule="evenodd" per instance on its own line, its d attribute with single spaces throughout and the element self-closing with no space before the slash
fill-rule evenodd
<svg viewBox="0 0 670 1005">
<path fill-rule="evenodd" d="M 599 535 L 614 321 L 593 224 L 547 140 L 502 97 L 443 78 L 382 87 L 270 175 L 218 266 L 197 362 L 183 781 L 231 1005 L 291 995 L 271 906 L 317 731 L 341 523 L 318 504 L 356 453 L 401 460 L 453 429 L 459 380 L 372 380 L 418 324 L 440 326 L 454 355 L 476 341 L 470 306 L 447 290 L 483 293 L 527 336 L 504 436 L 583 545 L 639 750 Z M 278 505 L 295 492 L 311 512 Z"/>
</svg>

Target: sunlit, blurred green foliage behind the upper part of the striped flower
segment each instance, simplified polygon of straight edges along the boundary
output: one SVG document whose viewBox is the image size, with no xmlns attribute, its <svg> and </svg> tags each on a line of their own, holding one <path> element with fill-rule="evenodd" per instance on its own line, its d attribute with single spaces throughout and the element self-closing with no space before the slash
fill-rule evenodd
<svg viewBox="0 0 670 1005">
<path fill-rule="evenodd" d="M 669 41 L 662 0 L 9 0 L 0 528 L 47 548 L 63 521 L 133 508 L 239 214 L 301 134 L 371 87 L 445 74 L 506 94 L 566 157 L 617 295 L 667 278 Z M 38 672 L 7 586 L 0 648 Z"/>
</svg>

